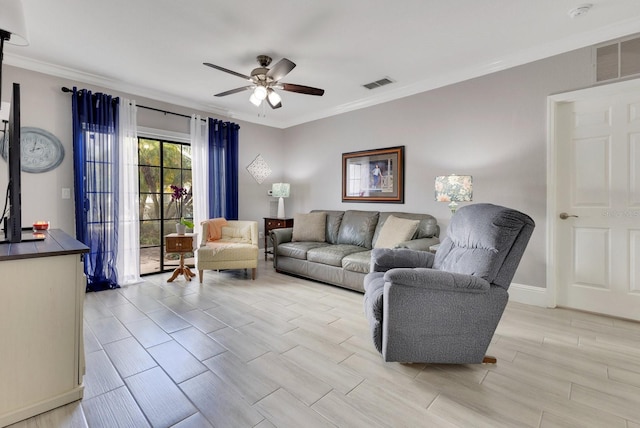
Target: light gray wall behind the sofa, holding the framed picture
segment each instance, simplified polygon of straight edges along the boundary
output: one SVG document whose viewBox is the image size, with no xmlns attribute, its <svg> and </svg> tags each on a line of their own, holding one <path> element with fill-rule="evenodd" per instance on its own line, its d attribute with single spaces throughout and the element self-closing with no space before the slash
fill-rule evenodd
<svg viewBox="0 0 640 428">
<path fill-rule="evenodd" d="M 286 130 L 290 212 L 423 212 L 448 224 L 434 177 L 471 174 L 473 202 L 506 205 L 537 227 L 514 282 L 546 285 L 546 97 L 588 86 L 582 49 Z M 401 84 L 402 82 L 398 82 Z M 405 146 L 405 203 L 342 203 L 342 153 Z M 443 231 L 444 235 L 444 231 Z"/>
</svg>

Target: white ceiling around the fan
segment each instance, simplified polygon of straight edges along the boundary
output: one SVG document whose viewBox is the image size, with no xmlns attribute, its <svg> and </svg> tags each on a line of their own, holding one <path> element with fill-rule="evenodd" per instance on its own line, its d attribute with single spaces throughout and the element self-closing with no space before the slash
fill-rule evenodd
<svg viewBox="0 0 640 428">
<path fill-rule="evenodd" d="M 5 45 L 6 64 L 278 128 L 640 32 L 640 0 L 577 18 L 579 0 L 22 1 L 30 45 Z M 259 54 L 325 95 L 281 91 L 278 110 L 213 97 L 247 82 L 203 62 L 249 74 Z"/>
</svg>

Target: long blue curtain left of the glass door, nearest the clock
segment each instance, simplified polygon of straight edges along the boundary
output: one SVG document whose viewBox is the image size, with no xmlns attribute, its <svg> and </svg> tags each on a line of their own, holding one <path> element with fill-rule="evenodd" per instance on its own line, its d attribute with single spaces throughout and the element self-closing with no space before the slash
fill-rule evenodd
<svg viewBox="0 0 640 428">
<path fill-rule="evenodd" d="M 76 238 L 87 291 L 117 288 L 119 99 L 73 88 L 73 168 Z"/>
</svg>

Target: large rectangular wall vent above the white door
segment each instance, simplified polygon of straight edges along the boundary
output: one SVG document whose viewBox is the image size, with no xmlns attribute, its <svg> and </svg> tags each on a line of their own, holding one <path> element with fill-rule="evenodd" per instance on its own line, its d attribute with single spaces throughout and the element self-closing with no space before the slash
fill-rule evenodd
<svg viewBox="0 0 640 428">
<path fill-rule="evenodd" d="M 640 35 L 594 47 L 596 82 L 640 74 Z"/>
</svg>

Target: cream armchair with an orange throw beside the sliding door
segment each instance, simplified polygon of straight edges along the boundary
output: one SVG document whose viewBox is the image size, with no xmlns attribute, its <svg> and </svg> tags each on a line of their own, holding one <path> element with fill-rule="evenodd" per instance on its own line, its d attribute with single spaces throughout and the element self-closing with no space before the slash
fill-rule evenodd
<svg viewBox="0 0 640 428">
<path fill-rule="evenodd" d="M 196 258 L 200 283 L 205 269 L 252 269 L 251 279 L 256 279 L 258 222 L 211 219 L 201 225 L 202 241 Z"/>
</svg>

